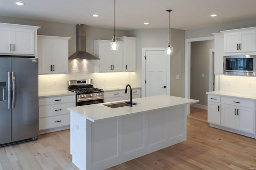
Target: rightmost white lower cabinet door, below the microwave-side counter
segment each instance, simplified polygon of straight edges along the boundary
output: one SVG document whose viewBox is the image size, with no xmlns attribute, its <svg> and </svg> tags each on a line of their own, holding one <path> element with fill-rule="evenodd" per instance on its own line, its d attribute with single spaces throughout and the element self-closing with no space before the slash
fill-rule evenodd
<svg viewBox="0 0 256 170">
<path fill-rule="evenodd" d="M 237 128 L 240 131 L 254 133 L 254 109 L 237 107 Z"/>
</svg>

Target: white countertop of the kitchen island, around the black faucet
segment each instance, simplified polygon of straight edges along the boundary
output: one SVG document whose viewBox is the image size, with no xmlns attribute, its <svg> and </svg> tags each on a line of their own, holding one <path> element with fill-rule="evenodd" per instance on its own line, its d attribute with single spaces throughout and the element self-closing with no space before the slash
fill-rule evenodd
<svg viewBox="0 0 256 170">
<path fill-rule="evenodd" d="M 127 101 L 127 100 L 122 100 L 122 101 Z M 122 102 L 122 101 L 117 101 L 117 102 Z M 132 107 L 124 106 L 124 107 L 117 107 L 117 108 L 111 108 L 103 105 L 103 104 L 117 103 L 117 102 L 108 102 L 108 103 L 101 103 L 101 104 L 70 107 L 68 108 L 68 110 L 74 113 L 83 115 L 86 119 L 94 122 L 100 119 L 106 119 L 110 117 L 119 117 L 119 116 L 134 114 L 134 113 L 140 113 L 143 111 L 163 109 L 168 107 L 174 107 L 174 106 L 199 102 L 198 100 L 179 98 L 179 97 L 167 96 L 167 95 L 151 96 L 146 98 L 136 98 L 133 101 L 140 104 L 133 105 Z"/>
</svg>

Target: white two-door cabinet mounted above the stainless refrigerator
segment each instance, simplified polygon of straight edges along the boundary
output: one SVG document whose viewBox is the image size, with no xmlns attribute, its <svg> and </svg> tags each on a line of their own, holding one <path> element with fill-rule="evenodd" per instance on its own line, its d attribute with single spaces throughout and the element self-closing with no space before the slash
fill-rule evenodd
<svg viewBox="0 0 256 170">
<path fill-rule="evenodd" d="M 36 55 L 40 27 L 0 23 L 0 54 Z"/>
</svg>

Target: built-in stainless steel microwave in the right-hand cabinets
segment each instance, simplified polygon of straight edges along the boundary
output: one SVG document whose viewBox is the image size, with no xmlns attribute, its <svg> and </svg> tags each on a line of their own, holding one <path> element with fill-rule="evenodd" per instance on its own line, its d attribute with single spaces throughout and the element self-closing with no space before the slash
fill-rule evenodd
<svg viewBox="0 0 256 170">
<path fill-rule="evenodd" d="M 256 55 L 223 56 L 223 74 L 256 76 Z"/>
</svg>

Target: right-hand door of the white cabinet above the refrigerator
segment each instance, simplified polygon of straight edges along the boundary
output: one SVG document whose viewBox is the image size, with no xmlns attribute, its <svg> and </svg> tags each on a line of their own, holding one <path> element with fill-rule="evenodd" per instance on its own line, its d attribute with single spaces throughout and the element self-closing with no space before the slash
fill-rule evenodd
<svg viewBox="0 0 256 170">
<path fill-rule="evenodd" d="M 15 54 L 35 53 L 35 31 L 33 29 L 13 28 L 12 47 Z"/>
</svg>

